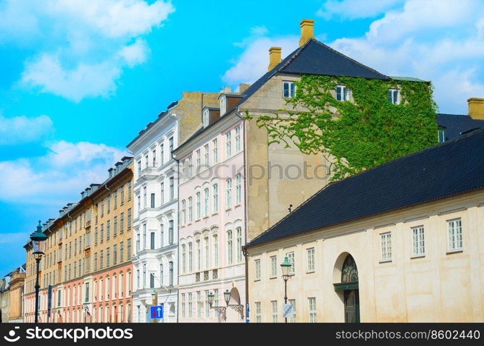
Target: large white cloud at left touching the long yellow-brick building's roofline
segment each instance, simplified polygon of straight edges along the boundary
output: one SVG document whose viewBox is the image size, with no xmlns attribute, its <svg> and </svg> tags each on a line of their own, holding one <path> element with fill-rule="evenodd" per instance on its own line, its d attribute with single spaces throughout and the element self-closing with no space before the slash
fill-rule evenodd
<svg viewBox="0 0 484 346">
<path fill-rule="evenodd" d="M 62 208 L 89 184 L 106 180 L 106 170 L 126 154 L 89 142 L 59 141 L 47 149 L 37 158 L 0 161 L 0 201 Z"/>
</svg>

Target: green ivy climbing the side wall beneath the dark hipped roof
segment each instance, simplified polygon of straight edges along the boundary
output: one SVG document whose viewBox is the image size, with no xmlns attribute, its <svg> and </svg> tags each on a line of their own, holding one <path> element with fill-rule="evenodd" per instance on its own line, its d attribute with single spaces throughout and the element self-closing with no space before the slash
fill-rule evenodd
<svg viewBox="0 0 484 346">
<path fill-rule="evenodd" d="M 290 109 L 259 116 L 257 125 L 267 129 L 269 144 L 322 152 L 333 181 L 438 142 L 430 83 L 303 75 L 295 84 L 295 97 L 286 99 Z M 337 84 L 351 89 L 354 102 L 335 99 Z M 398 85 L 401 102 L 391 104 L 388 91 Z"/>
</svg>

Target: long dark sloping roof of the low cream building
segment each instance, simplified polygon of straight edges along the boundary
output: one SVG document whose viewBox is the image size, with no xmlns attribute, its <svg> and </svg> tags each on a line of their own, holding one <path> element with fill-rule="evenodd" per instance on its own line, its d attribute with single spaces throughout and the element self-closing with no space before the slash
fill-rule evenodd
<svg viewBox="0 0 484 346">
<path fill-rule="evenodd" d="M 248 246 L 484 188 L 484 129 L 331 183 Z"/>
</svg>

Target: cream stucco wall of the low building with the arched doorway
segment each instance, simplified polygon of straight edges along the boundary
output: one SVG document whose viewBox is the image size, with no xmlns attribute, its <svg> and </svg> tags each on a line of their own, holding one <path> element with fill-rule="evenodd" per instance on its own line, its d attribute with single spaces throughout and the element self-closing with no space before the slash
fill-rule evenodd
<svg viewBox="0 0 484 346">
<path fill-rule="evenodd" d="M 447 221 L 460 218 L 463 251 L 450 253 Z M 384 226 L 387 225 L 387 226 Z M 424 226 L 426 253 L 412 256 L 411 228 Z M 261 302 L 262 322 L 270 322 L 270 301 L 283 304 L 279 264 L 295 251 L 295 276 L 288 298 L 296 300 L 297 322 L 308 322 L 308 298 L 316 298 L 318 322 L 344 322 L 340 266 L 351 254 L 358 268 L 362 322 L 484 321 L 484 191 L 355 221 L 344 226 L 288 237 L 249 248 L 251 322 Z M 392 260 L 382 262 L 380 234 L 391 232 Z M 315 271 L 307 273 L 306 249 L 315 248 Z M 277 255 L 277 277 L 270 278 L 270 256 Z M 254 260 L 261 260 L 255 281 Z"/>
</svg>

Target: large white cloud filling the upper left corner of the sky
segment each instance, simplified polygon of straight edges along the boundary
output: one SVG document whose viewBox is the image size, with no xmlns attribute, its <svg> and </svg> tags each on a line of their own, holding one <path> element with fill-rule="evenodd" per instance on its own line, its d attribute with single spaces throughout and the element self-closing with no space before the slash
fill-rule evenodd
<svg viewBox="0 0 484 346">
<path fill-rule="evenodd" d="M 164 0 L 6 0 L 0 44 L 28 46 L 21 85 L 79 102 L 109 96 L 123 69 L 145 62 L 142 39 L 174 12 Z"/>
</svg>

